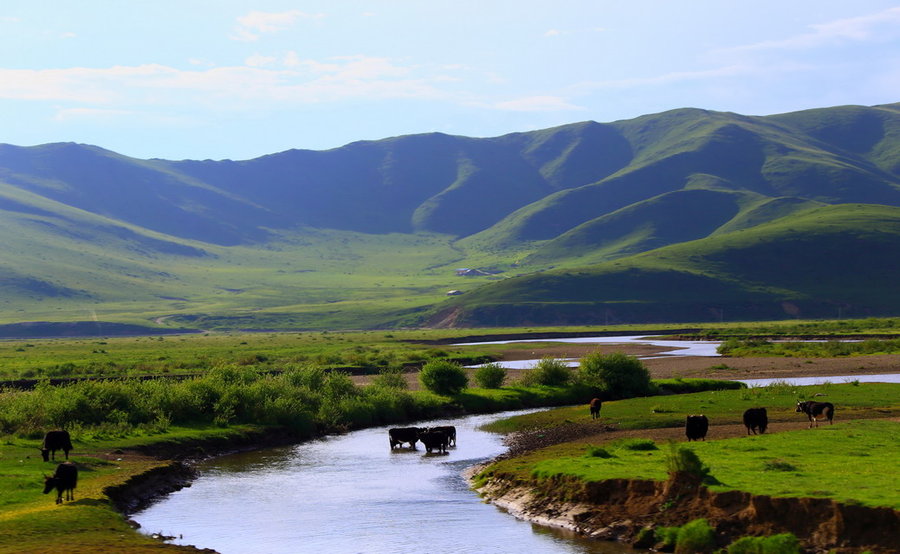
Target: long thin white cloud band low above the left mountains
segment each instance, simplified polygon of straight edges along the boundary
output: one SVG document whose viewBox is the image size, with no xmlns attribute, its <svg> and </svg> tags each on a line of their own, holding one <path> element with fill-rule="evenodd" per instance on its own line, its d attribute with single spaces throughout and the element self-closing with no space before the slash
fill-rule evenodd
<svg viewBox="0 0 900 554">
<path fill-rule="evenodd" d="M 68 102 L 66 108 L 135 110 L 152 106 L 256 110 L 281 105 L 420 98 L 452 100 L 442 90 L 453 79 L 431 68 L 405 67 L 365 56 L 303 60 L 294 53 L 254 56 L 247 65 L 183 70 L 151 64 L 109 68 L 20 70 L 0 68 L 0 98 Z M 66 117 L 79 112 L 66 112 Z M 81 112 L 89 113 L 89 112 Z"/>
</svg>

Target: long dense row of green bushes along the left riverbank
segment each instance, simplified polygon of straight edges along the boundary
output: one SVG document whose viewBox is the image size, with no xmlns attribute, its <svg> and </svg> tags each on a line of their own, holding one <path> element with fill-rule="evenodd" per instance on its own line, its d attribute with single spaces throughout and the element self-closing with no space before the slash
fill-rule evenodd
<svg viewBox="0 0 900 554">
<path fill-rule="evenodd" d="M 402 376 L 401 376 L 402 378 Z M 245 366 L 218 367 L 202 377 L 41 382 L 0 394 L 0 434 L 39 435 L 49 428 L 93 428 L 127 434 L 169 425 L 252 423 L 308 435 L 422 416 L 422 399 L 398 386 L 358 387 L 345 373 L 297 368 L 279 375 Z"/>
</svg>

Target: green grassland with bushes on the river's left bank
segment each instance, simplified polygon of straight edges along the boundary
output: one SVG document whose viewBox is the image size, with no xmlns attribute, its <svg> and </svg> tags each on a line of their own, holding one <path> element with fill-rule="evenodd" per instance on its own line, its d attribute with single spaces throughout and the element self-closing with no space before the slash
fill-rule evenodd
<svg viewBox="0 0 900 554">
<path fill-rule="evenodd" d="M 825 325 L 785 323 L 789 324 L 819 329 Z M 754 333 L 751 328 L 745 329 L 748 336 Z M 866 330 L 873 333 L 884 334 L 891 329 L 897 331 L 885 320 L 866 323 Z M 602 331 L 641 334 L 646 330 L 638 326 L 535 327 L 2 341 L 0 379 L 31 378 L 43 384 L 33 391 L 0 391 L 0 552 L 178 550 L 179 547 L 161 545 L 132 530 L 104 493 L 109 486 L 170 463 L 140 454 L 148 448 L 152 451 L 154 445 L 184 445 L 185 450 L 197 452 L 198 446 L 257 440 L 272 430 L 285 428 L 295 433 L 295 440 L 301 440 L 328 429 L 411 421 L 437 414 L 575 405 L 584 396 L 583 390 L 574 388 L 506 386 L 466 389 L 454 397 L 440 397 L 425 391 L 360 387 L 349 382 L 342 371 L 329 369 L 358 370 L 377 378 L 383 369 L 415 366 L 433 359 L 494 358 L 510 348 L 446 344 L 476 335 Z M 329 373 L 335 376 L 329 379 Z M 131 379 L 154 375 L 190 377 Z M 47 382 L 50 377 L 107 380 L 54 387 Z M 678 386 L 690 382 L 685 380 Z M 859 390 L 871 392 L 869 387 L 860 386 Z M 753 389 L 731 394 L 738 398 L 749 394 L 751 397 L 744 401 L 753 403 L 759 400 L 752 396 L 758 392 Z M 279 401 L 276 393 L 288 393 L 299 404 Z M 710 406 L 727 396 L 703 394 Z M 665 426 L 678 419 L 673 414 L 683 408 L 677 404 L 680 398 L 659 396 L 634 402 L 645 403 L 645 408 L 655 407 L 657 412 L 649 417 L 659 418 L 654 425 Z M 615 414 L 618 405 L 606 403 L 603 416 Z M 842 406 L 839 419 L 849 413 L 847 406 Z M 868 410 L 875 417 L 879 408 L 867 407 L 861 399 L 853 409 L 857 415 Z M 554 413 L 561 414 L 562 420 L 578 421 L 585 408 L 568 410 Z M 783 415 L 796 421 L 796 414 Z M 90 421 L 90 417 L 95 420 Z M 620 425 L 639 427 L 640 419 L 629 420 L 623 412 Z M 40 494 L 42 475 L 51 472 L 54 464 L 41 461 L 38 445 L 43 431 L 62 424 L 73 432 L 72 458 L 79 465 L 80 480 L 76 501 L 55 506 L 51 495 Z M 583 457 L 585 447 L 579 448 L 573 457 Z M 65 533 L 60 533 L 60 529 L 65 529 Z"/>
</svg>

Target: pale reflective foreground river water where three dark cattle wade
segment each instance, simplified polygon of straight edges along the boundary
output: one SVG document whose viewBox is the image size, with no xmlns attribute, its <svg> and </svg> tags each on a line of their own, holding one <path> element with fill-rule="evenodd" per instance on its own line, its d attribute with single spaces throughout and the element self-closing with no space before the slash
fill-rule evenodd
<svg viewBox="0 0 900 554">
<path fill-rule="evenodd" d="M 635 552 L 519 521 L 469 489 L 461 472 L 505 450 L 478 427 L 509 415 L 422 424 L 456 425 L 459 445 L 446 455 L 421 444 L 392 452 L 381 427 L 218 458 L 134 519 L 145 533 L 222 553 Z"/>
</svg>

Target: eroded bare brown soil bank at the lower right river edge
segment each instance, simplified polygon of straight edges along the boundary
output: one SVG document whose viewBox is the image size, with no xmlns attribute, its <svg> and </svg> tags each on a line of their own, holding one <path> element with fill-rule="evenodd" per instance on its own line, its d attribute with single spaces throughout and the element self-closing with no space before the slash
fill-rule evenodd
<svg viewBox="0 0 900 554">
<path fill-rule="evenodd" d="M 745 535 L 793 533 L 814 552 L 900 551 L 900 512 L 820 498 L 712 492 L 691 476 L 668 482 L 574 478 L 521 482 L 495 475 L 478 489 L 516 517 L 605 540 L 634 542 L 644 527 L 706 518 L 718 546 Z M 652 546 L 652 545 L 647 545 Z"/>
</svg>

